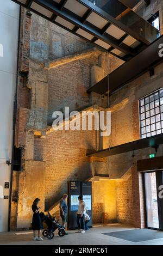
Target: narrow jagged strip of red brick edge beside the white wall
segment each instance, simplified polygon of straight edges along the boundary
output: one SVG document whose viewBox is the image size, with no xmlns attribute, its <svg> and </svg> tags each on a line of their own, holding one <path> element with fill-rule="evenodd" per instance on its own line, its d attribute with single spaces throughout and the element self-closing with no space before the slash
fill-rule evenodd
<svg viewBox="0 0 163 256">
<path fill-rule="evenodd" d="M 20 26 L 20 45 L 18 59 L 18 82 L 17 82 L 17 117 L 15 130 L 15 145 L 20 147 L 25 143 L 27 108 L 29 108 L 30 92 L 26 86 L 26 79 L 19 75 L 19 72 L 28 72 L 29 70 L 29 51 L 30 51 L 30 26 L 31 19 L 27 15 L 27 10 L 21 8 L 21 26 Z M 20 108 L 26 108 L 24 109 Z M 24 114 L 23 114 L 24 111 Z M 20 131 L 20 134 L 19 134 Z M 23 138 L 24 136 L 24 138 Z"/>
</svg>

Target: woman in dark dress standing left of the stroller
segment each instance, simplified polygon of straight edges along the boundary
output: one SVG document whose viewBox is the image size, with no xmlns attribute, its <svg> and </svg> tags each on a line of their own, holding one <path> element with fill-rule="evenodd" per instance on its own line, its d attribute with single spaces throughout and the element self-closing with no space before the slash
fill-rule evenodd
<svg viewBox="0 0 163 256">
<path fill-rule="evenodd" d="M 42 227 L 42 222 L 41 222 L 41 218 L 40 218 L 40 212 L 39 210 L 41 209 L 41 207 L 38 208 L 38 204 L 40 202 L 39 198 L 36 198 L 33 202 L 32 205 L 32 210 L 33 210 L 33 218 L 32 218 L 32 229 L 33 229 L 33 234 L 34 234 L 34 238 L 33 240 L 43 240 L 41 235 L 41 229 Z M 36 236 L 36 230 L 38 231 L 38 236 Z"/>
</svg>

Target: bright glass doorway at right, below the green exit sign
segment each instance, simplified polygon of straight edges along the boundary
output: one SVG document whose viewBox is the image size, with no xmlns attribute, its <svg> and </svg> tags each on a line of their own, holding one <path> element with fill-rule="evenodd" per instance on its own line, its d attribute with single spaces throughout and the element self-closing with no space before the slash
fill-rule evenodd
<svg viewBox="0 0 163 256">
<path fill-rule="evenodd" d="M 146 227 L 150 229 L 163 230 L 163 199 L 160 197 L 162 174 L 162 170 L 144 173 Z"/>
</svg>

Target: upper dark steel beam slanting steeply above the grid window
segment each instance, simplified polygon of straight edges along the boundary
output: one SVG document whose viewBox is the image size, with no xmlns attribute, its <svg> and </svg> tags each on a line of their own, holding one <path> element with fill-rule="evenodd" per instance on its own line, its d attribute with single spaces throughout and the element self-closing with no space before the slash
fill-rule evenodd
<svg viewBox="0 0 163 256">
<path fill-rule="evenodd" d="M 121 65 L 118 69 L 109 74 L 109 92 L 112 93 L 126 83 L 133 81 L 149 70 L 163 62 L 163 57 L 159 57 L 159 45 L 163 43 L 163 35 L 156 39 L 145 50 L 137 54 L 134 58 Z M 104 77 L 95 86 L 92 86 L 88 93 L 95 92 L 104 94 L 108 92 L 108 76 Z"/>
</svg>

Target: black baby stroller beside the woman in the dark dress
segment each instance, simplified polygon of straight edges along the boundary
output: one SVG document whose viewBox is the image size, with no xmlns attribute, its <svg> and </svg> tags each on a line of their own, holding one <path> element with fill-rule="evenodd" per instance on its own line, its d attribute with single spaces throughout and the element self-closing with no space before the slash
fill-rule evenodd
<svg viewBox="0 0 163 256">
<path fill-rule="evenodd" d="M 45 216 L 45 215 L 44 215 Z M 48 214 L 43 217 L 42 220 L 45 221 L 47 224 L 48 229 L 45 229 L 42 231 L 42 235 L 44 237 L 47 237 L 47 239 L 53 239 L 54 237 L 54 231 L 58 229 L 58 235 L 64 236 L 65 235 L 65 227 L 62 227 L 62 225 L 59 224 L 56 218 L 52 218 L 51 214 Z"/>
</svg>

